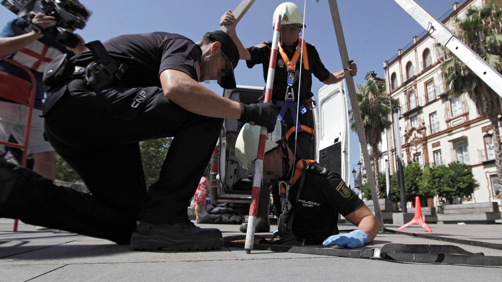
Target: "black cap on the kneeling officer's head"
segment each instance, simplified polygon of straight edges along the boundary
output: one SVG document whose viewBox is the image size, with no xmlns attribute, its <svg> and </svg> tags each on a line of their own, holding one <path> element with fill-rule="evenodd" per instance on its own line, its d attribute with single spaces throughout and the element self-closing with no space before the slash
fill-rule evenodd
<svg viewBox="0 0 502 282">
<path fill-rule="evenodd" d="M 233 43 L 232 38 L 221 30 L 210 31 L 204 35 L 204 38 L 206 37 L 214 42 L 218 41 L 221 44 L 222 55 L 229 60 L 229 64 L 223 71 L 223 76 L 221 77 L 219 85 L 225 89 L 235 88 L 236 83 L 233 69 L 235 69 L 239 62 L 239 50 L 237 46 Z"/>
</svg>

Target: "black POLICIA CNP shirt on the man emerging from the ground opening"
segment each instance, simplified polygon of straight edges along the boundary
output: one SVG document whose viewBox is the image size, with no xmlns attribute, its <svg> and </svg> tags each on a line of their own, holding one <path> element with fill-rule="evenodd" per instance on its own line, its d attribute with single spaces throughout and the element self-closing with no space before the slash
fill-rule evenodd
<svg viewBox="0 0 502 282">
<path fill-rule="evenodd" d="M 305 182 L 294 205 L 292 231 L 300 241 L 316 245 L 327 237 L 338 234 L 338 213 L 343 216 L 355 211 L 364 202 L 350 190 L 341 177 L 318 163 L 309 165 L 305 172 Z M 300 179 L 291 187 L 292 201 Z"/>
</svg>

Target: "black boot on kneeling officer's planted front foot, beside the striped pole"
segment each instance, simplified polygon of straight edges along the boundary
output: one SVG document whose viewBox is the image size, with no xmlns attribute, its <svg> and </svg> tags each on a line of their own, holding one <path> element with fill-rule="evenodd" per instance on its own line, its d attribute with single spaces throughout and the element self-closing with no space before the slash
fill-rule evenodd
<svg viewBox="0 0 502 282">
<path fill-rule="evenodd" d="M 222 246 L 221 231 L 216 228 L 200 228 L 191 221 L 176 224 L 137 221 L 136 231 L 131 236 L 131 247 L 139 250 L 196 251 Z"/>
</svg>

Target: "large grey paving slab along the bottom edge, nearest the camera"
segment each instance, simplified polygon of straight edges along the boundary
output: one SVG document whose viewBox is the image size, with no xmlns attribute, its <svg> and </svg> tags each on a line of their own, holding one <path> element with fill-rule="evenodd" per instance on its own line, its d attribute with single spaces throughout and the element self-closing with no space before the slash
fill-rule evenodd
<svg viewBox="0 0 502 282">
<path fill-rule="evenodd" d="M 499 280 L 499 270 L 330 257 L 74 264 L 33 281 L 489 281 Z"/>
</svg>

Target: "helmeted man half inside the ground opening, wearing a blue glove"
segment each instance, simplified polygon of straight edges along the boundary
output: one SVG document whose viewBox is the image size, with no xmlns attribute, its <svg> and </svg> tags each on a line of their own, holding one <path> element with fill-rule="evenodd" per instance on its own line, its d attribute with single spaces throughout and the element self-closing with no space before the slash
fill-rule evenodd
<svg viewBox="0 0 502 282">
<path fill-rule="evenodd" d="M 243 168 L 257 159 L 260 126 L 246 123 L 235 142 L 235 157 Z M 373 241 L 380 223 L 364 202 L 340 176 L 313 160 L 293 160 L 286 125 L 277 120 L 274 132 L 267 134 L 263 160 L 264 181 L 279 181 L 282 214 L 280 242 L 288 244 L 338 245 L 360 247 Z M 338 234 L 338 213 L 357 226 Z"/>
</svg>

